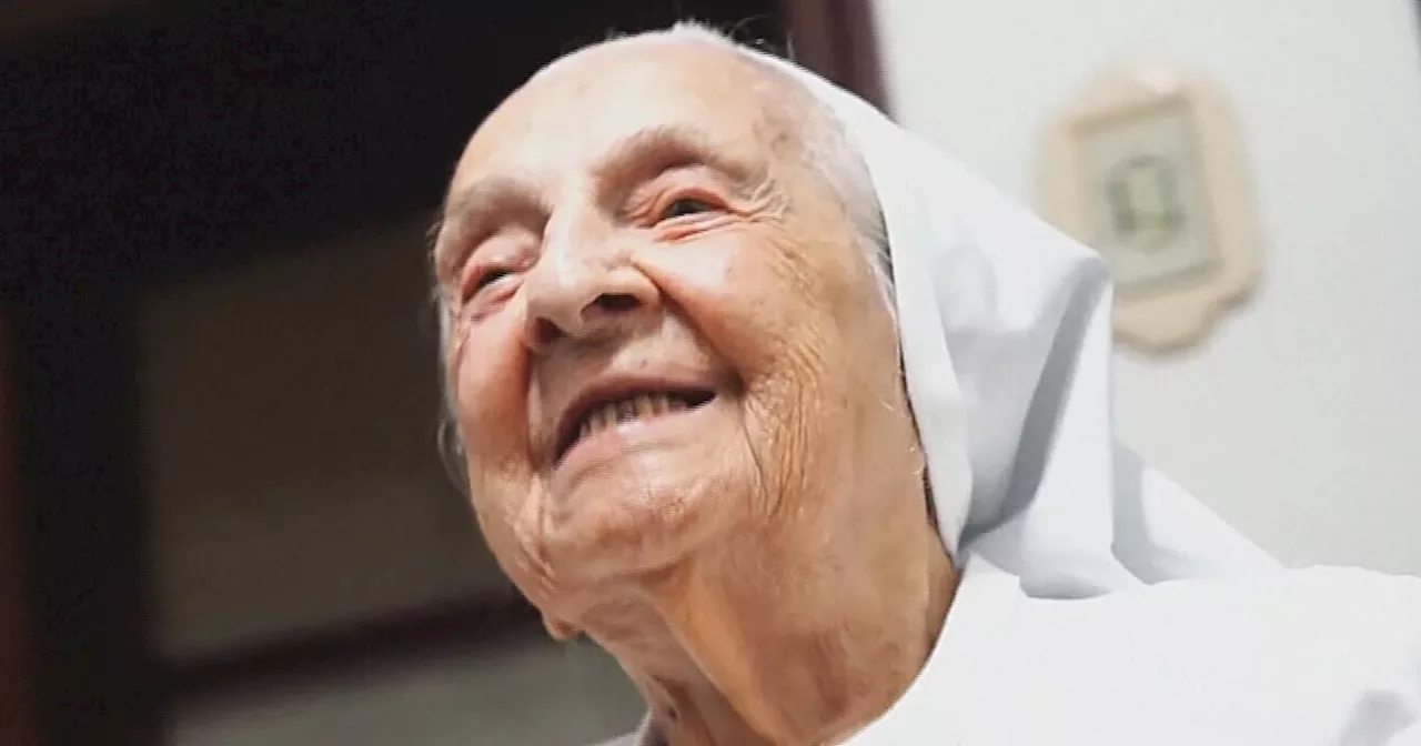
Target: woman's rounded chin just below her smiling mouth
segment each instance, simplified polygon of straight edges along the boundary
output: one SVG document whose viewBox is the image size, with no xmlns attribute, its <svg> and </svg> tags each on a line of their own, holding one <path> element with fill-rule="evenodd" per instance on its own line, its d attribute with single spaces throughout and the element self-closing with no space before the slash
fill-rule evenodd
<svg viewBox="0 0 1421 746">
<path fill-rule="evenodd" d="M 541 554 L 558 578 L 666 570 L 747 514 L 757 469 L 737 401 L 661 419 L 608 428 L 546 475 Z"/>
</svg>

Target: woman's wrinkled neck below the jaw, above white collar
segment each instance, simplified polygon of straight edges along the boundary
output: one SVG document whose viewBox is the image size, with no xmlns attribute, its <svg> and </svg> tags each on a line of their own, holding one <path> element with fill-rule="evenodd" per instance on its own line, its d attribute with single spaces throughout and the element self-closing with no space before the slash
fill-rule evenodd
<svg viewBox="0 0 1421 746">
<path fill-rule="evenodd" d="M 806 541 L 725 547 L 647 581 L 624 614 L 634 634 L 598 642 L 671 746 L 840 743 L 918 675 L 958 581 L 926 520 L 871 533 L 871 547 L 816 557 L 784 551 Z"/>
</svg>

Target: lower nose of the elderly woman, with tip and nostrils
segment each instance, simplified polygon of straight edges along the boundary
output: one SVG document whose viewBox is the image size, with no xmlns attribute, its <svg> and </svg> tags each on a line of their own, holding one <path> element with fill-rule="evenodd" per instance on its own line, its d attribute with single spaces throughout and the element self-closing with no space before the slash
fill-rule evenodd
<svg viewBox="0 0 1421 746">
<path fill-rule="evenodd" d="M 657 286 L 624 256 L 583 249 L 547 252 L 524 277 L 529 350 L 615 335 L 659 303 Z"/>
</svg>

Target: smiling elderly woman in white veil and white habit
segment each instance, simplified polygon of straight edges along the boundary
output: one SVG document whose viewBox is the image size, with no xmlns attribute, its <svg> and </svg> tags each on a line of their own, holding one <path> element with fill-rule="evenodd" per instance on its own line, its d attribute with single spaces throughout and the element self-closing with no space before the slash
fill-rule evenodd
<svg viewBox="0 0 1421 746">
<path fill-rule="evenodd" d="M 433 261 L 479 526 L 625 743 L 1421 739 L 1421 581 L 1280 570 L 1117 448 L 1101 263 L 803 70 L 553 63 Z"/>
</svg>

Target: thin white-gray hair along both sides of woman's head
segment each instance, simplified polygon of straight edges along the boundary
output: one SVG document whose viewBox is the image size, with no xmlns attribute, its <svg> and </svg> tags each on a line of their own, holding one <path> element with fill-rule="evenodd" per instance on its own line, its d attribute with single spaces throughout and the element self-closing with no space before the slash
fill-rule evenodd
<svg viewBox="0 0 1421 746">
<path fill-rule="evenodd" d="M 782 94 L 779 101 L 794 112 L 794 119 L 800 122 L 801 156 L 804 166 L 816 172 L 821 183 L 840 200 L 844 213 L 854 226 L 857 243 L 864 252 L 867 266 L 874 276 L 888 313 L 897 318 L 892 300 L 892 277 L 890 273 L 888 239 L 884 229 L 882 210 L 874 192 L 868 165 L 863 155 L 848 138 L 843 122 L 834 111 L 818 99 L 793 74 L 770 64 L 760 53 L 746 47 L 729 36 L 709 26 L 682 21 L 661 31 L 647 31 L 630 37 L 614 37 L 600 44 L 625 43 L 631 40 L 662 40 L 685 41 L 692 44 L 710 44 L 729 53 L 740 55 L 745 61 L 760 70 L 769 85 L 776 87 Z M 563 57 L 551 65 L 557 65 L 573 55 Z M 544 68 L 546 70 L 546 68 Z M 438 227 L 438 226 L 436 226 Z M 443 392 L 443 411 L 439 422 L 439 455 L 449 472 L 449 479 L 460 492 L 468 492 L 463 475 L 463 445 L 459 440 L 455 423 L 453 388 L 446 375 L 446 355 L 449 344 L 449 308 L 442 293 L 435 288 L 435 313 L 439 318 L 439 381 Z"/>
</svg>

